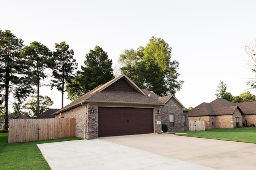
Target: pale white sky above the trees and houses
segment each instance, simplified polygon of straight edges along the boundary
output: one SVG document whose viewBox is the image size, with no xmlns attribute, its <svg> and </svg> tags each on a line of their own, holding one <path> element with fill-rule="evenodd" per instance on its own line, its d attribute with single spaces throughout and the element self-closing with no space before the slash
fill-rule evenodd
<svg viewBox="0 0 256 170">
<path fill-rule="evenodd" d="M 114 67 L 125 49 L 162 38 L 180 63 L 185 82 L 175 96 L 188 108 L 215 100 L 220 81 L 234 96 L 249 88 L 255 75 L 244 47 L 256 38 L 255 7 L 255 0 L 4 0 L 0 30 L 52 51 L 65 41 L 79 68 L 95 45 Z M 61 107 L 60 91 L 42 88 L 40 95 L 52 98 L 51 108 Z M 64 99 L 64 106 L 69 103 Z"/>
</svg>

